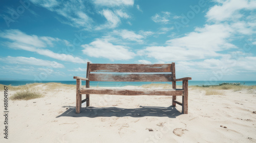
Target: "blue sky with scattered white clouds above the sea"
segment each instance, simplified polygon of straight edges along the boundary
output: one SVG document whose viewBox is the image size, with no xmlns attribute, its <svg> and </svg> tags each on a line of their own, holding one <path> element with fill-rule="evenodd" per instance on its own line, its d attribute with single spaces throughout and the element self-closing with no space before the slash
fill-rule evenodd
<svg viewBox="0 0 256 143">
<path fill-rule="evenodd" d="M 176 63 L 176 77 L 256 79 L 256 1 L 1 1 L 0 79 L 73 80 L 92 63 Z"/>
</svg>

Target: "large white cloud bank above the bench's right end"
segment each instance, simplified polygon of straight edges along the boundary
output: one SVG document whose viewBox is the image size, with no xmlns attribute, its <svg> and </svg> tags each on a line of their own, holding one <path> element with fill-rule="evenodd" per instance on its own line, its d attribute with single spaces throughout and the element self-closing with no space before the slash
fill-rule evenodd
<svg viewBox="0 0 256 143">
<path fill-rule="evenodd" d="M 229 43 L 232 30 L 227 25 L 205 25 L 184 37 L 166 41 L 167 46 L 147 46 L 138 55 L 155 58 L 159 62 L 187 61 L 218 57 L 217 52 L 237 48 Z"/>
</svg>

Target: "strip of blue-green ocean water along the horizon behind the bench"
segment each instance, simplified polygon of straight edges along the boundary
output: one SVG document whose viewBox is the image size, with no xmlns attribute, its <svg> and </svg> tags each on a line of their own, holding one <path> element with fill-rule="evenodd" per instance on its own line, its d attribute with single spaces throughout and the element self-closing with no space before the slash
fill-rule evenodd
<svg viewBox="0 0 256 143">
<path fill-rule="evenodd" d="M 62 84 L 76 84 L 76 81 L 1 81 L 0 84 L 4 85 L 12 85 L 12 86 L 19 86 L 19 85 L 26 85 L 30 83 L 62 83 Z M 241 85 L 256 85 L 256 81 L 193 81 L 189 80 L 188 85 L 219 85 L 220 83 L 241 83 Z M 122 87 L 127 85 L 132 86 L 141 86 L 144 84 L 151 84 L 151 83 L 161 83 L 161 84 L 172 84 L 172 82 L 95 82 L 91 81 L 90 86 L 101 86 L 101 87 Z M 182 82 L 177 82 L 177 85 L 182 85 Z M 82 81 L 82 85 L 86 85 L 85 81 Z"/>
</svg>

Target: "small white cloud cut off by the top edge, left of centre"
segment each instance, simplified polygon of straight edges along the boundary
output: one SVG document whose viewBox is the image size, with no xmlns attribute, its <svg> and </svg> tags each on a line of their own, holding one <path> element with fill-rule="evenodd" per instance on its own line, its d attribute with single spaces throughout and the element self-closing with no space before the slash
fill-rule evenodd
<svg viewBox="0 0 256 143">
<path fill-rule="evenodd" d="M 94 4 L 97 6 L 133 6 L 134 0 L 93 0 Z"/>
</svg>

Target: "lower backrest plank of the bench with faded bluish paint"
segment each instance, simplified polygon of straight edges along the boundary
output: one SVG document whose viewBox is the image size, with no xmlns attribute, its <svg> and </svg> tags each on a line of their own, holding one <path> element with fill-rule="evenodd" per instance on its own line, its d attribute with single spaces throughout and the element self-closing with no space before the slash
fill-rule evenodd
<svg viewBox="0 0 256 143">
<path fill-rule="evenodd" d="M 172 74 L 89 74 L 90 81 L 169 82 Z"/>
</svg>

